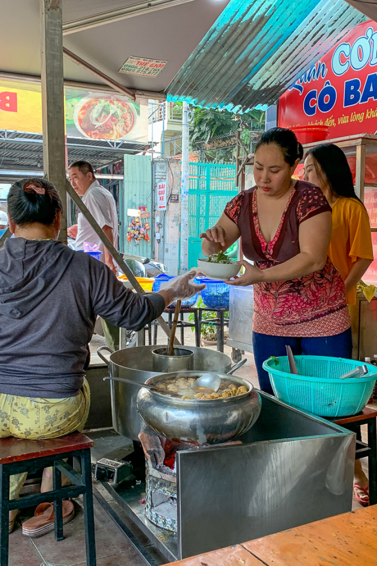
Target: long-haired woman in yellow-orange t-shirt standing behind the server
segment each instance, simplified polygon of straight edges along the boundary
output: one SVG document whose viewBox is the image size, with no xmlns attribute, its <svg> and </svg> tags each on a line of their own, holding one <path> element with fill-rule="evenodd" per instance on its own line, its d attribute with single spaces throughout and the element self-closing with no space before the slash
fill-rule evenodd
<svg viewBox="0 0 377 566">
<path fill-rule="evenodd" d="M 355 194 L 352 173 L 337 145 L 323 144 L 306 153 L 304 181 L 317 185 L 332 208 L 332 236 L 328 256 L 345 282 L 348 305 L 356 303 L 356 286 L 373 260 L 369 216 Z M 357 501 L 369 504 L 368 479 L 355 461 Z"/>
</svg>

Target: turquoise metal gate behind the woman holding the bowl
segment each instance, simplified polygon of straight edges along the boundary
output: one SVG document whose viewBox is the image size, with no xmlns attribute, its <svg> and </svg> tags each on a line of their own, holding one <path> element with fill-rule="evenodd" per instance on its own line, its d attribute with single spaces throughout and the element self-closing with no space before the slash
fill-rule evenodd
<svg viewBox="0 0 377 566">
<path fill-rule="evenodd" d="M 189 269 L 202 257 L 199 234 L 215 224 L 237 194 L 235 165 L 189 164 Z"/>
</svg>

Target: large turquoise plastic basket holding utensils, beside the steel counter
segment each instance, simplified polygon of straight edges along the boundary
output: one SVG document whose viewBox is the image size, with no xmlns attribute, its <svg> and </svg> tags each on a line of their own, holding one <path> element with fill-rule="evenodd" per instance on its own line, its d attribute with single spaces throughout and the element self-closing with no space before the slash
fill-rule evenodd
<svg viewBox="0 0 377 566">
<path fill-rule="evenodd" d="M 319 417 L 350 417 L 362 411 L 377 379 L 377 367 L 367 364 L 363 378 L 337 379 L 365 362 L 314 355 L 294 356 L 299 375 L 289 373 L 287 356 L 263 362 L 280 401 Z"/>
</svg>

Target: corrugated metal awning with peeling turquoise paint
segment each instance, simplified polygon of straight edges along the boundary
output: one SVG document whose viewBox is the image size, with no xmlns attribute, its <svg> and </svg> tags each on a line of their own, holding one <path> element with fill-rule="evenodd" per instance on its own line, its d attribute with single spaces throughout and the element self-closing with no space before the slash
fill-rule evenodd
<svg viewBox="0 0 377 566">
<path fill-rule="evenodd" d="M 365 19 L 344 0 L 231 0 L 167 88 L 168 100 L 266 108 Z"/>
</svg>

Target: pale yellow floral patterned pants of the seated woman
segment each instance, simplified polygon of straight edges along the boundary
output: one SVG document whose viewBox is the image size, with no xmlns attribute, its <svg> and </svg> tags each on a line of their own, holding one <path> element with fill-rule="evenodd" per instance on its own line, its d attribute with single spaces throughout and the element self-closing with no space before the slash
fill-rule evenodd
<svg viewBox="0 0 377 566">
<path fill-rule="evenodd" d="M 0 393 L 0 438 L 58 438 L 78 430 L 88 418 L 90 390 L 84 379 L 79 395 L 60 399 L 19 397 Z M 18 498 L 27 473 L 11 475 L 10 499 Z"/>
</svg>

